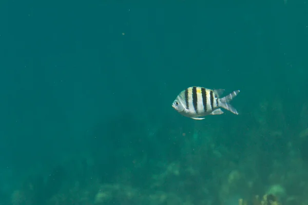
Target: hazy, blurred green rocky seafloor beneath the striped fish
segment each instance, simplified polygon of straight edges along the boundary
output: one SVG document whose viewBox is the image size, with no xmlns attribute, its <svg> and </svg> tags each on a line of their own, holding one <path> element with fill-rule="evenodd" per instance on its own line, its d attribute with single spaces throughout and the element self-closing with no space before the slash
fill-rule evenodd
<svg viewBox="0 0 308 205">
<path fill-rule="evenodd" d="M 227 130 L 123 114 L 98 125 L 92 153 L 64 159 L 48 176 L 24 178 L 10 204 L 277 204 L 254 200 L 265 194 L 307 204 L 308 130 L 290 129 L 277 100 L 263 101 L 252 116 L 248 129 L 231 123 L 236 127 Z M 308 116 L 307 106 L 299 116 Z M 237 132 L 245 138 L 230 137 Z M 103 162 L 106 141 L 115 149 Z"/>
</svg>

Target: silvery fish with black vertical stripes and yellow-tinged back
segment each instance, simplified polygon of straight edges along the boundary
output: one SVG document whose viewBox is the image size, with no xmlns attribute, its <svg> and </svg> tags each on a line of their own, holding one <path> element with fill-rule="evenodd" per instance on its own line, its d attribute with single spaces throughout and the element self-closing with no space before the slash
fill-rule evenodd
<svg viewBox="0 0 308 205">
<path fill-rule="evenodd" d="M 236 115 L 239 113 L 229 102 L 239 94 L 239 90 L 233 91 L 220 98 L 223 89 L 211 90 L 202 87 L 189 87 L 183 90 L 172 103 L 172 107 L 180 114 L 192 119 L 204 119 L 206 115 L 221 115 L 224 108 Z"/>
</svg>

